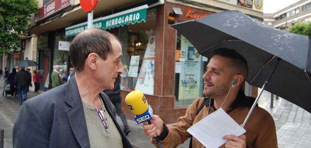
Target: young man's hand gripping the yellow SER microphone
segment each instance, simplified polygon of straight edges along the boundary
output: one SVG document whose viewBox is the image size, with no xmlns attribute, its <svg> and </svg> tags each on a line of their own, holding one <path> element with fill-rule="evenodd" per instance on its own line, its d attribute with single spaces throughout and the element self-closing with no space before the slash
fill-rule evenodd
<svg viewBox="0 0 311 148">
<path fill-rule="evenodd" d="M 148 124 L 148 122 L 143 123 L 145 135 L 149 137 L 160 135 L 163 131 L 163 120 L 159 116 L 153 114 L 150 121 L 151 124 Z"/>
</svg>

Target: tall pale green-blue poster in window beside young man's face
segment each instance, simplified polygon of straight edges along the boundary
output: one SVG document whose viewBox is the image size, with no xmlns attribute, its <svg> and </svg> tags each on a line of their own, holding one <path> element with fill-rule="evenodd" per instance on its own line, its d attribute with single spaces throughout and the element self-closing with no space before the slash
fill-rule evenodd
<svg viewBox="0 0 311 148">
<path fill-rule="evenodd" d="M 184 52 L 187 58 L 185 62 L 181 62 L 178 100 L 192 100 L 200 96 L 202 60 L 194 46 L 184 36 L 181 37 L 181 52 Z"/>
</svg>

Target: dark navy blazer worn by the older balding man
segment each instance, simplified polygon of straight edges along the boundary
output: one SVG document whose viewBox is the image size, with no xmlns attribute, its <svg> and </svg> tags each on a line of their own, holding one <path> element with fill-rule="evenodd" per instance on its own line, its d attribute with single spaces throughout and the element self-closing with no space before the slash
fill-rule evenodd
<svg viewBox="0 0 311 148">
<path fill-rule="evenodd" d="M 132 148 L 114 116 L 114 105 L 104 93 L 100 97 L 122 137 L 123 147 Z M 13 147 L 90 148 L 75 77 L 23 103 L 14 123 Z"/>
</svg>

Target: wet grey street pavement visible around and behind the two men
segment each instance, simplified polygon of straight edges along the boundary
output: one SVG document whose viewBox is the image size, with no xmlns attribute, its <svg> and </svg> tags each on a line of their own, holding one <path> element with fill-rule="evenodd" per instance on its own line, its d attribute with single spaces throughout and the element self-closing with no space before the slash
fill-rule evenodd
<svg viewBox="0 0 311 148">
<path fill-rule="evenodd" d="M 3 80 L 0 80 L 0 84 Z M 3 87 L 0 86 L 0 91 Z M 28 98 L 39 93 L 30 92 Z M 311 113 L 293 105 L 284 99 L 274 98 L 274 107 L 270 108 L 270 93 L 264 92 L 259 100 L 259 106 L 269 111 L 274 119 L 279 148 L 311 148 Z M 4 148 L 12 148 L 12 129 L 15 118 L 20 111 L 16 98 L 0 96 L 0 129 L 4 129 Z M 117 117 L 122 126 L 122 122 Z M 127 120 L 131 132 L 128 139 L 134 148 L 154 148 L 150 138 L 144 135 L 142 125 L 135 121 Z M 178 148 L 188 148 L 189 140 Z"/>
</svg>

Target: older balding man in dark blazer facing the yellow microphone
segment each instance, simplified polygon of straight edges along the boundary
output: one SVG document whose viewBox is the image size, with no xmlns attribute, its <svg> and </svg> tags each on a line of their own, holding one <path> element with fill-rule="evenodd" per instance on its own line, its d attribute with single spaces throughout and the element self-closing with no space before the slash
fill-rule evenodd
<svg viewBox="0 0 311 148">
<path fill-rule="evenodd" d="M 69 55 L 70 80 L 25 102 L 13 129 L 14 148 L 131 148 L 105 89 L 123 72 L 117 37 L 98 29 L 80 33 Z"/>
</svg>

